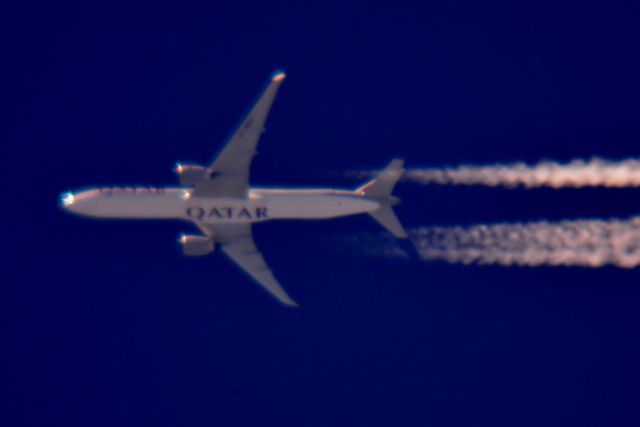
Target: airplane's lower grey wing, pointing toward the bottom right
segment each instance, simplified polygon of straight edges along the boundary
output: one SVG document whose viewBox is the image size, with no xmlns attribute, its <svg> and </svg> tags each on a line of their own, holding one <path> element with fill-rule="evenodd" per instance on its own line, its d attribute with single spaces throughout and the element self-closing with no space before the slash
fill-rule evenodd
<svg viewBox="0 0 640 427">
<path fill-rule="evenodd" d="M 297 307 L 273 276 L 262 253 L 253 243 L 250 224 L 201 224 L 198 228 L 222 245 L 222 251 L 281 303 Z"/>
</svg>

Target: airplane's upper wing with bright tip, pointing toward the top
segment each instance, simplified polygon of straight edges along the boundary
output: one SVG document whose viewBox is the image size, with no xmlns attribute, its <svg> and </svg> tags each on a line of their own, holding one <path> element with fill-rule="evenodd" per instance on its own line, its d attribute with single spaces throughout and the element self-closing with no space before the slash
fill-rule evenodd
<svg viewBox="0 0 640 427">
<path fill-rule="evenodd" d="M 207 168 L 208 177 L 198 183 L 192 197 L 245 197 L 249 189 L 249 169 L 256 153 L 264 123 L 285 78 L 273 75 L 251 111 L 240 123 L 218 157 Z"/>
</svg>

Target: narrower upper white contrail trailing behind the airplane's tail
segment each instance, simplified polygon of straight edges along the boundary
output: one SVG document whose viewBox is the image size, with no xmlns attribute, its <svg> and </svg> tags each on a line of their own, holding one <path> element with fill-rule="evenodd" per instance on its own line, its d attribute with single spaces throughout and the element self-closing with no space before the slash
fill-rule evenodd
<svg viewBox="0 0 640 427">
<path fill-rule="evenodd" d="M 569 163 L 544 161 L 535 165 L 511 163 L 408 169 L 404 179 L 422 184 L 490 187 L 640 187 L 640 159 L 611 161 L 592 158 Z"/>
</svg>

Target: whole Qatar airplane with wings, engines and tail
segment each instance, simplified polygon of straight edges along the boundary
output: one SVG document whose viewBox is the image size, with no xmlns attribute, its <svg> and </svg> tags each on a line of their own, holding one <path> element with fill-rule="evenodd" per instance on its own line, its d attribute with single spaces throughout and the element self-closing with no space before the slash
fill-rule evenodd
<svg viewBox="0 0 640 427">
<path fill-rule="evenodd" d="M 274 277 L 256 248 L 251 225 L 275 219 L 325 219 L 367 213 L 397 238 L 407 233 L 392 206 L 393 188 L 404 172 L 394 159 L 355 190 L 249 187 L 251 161 L 276 93 L 285 78 L 275 73 L 217 157 L 208 165 L 178 164 L 180 187 L 113 187 L 67 192 L 61 207 L 93 218 L 189 221 L 200 235 L 179 237 L 186 256 L 204 256 L 219 245 L 232 261 L 286 306 L 297 303 Z"/>
</svg>

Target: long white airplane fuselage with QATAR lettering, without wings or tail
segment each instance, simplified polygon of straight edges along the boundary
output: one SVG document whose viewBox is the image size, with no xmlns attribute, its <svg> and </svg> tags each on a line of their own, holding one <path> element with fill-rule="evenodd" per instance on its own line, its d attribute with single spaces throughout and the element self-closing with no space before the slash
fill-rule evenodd
<svg viewBox="0 0 640 427">
<path fill-rule="evenodd" d="M 375 211 L 375 200 L 346 190 L 251 189 L 246 198 L 191 197 L 187 188 L 103 188 L 67 194 L 63 207 L 97 218 L 180 219 L 252 223 L 271 219 L 323 219 Z"/>
</svg>

